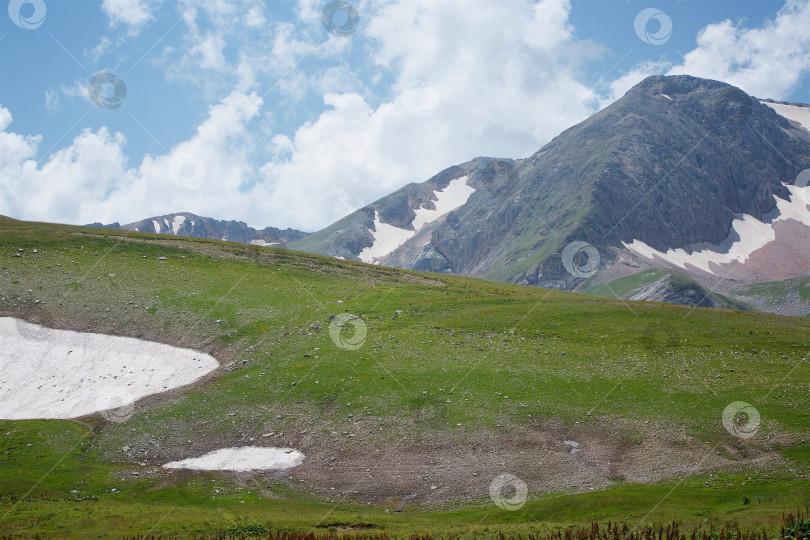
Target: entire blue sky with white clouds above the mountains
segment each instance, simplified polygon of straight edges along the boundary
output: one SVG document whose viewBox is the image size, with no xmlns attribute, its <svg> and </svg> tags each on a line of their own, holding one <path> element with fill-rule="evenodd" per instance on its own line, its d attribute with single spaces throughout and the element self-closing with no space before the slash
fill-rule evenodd
<svg viewBox="0 0 810 540">
<path fill-rule="evenodd" d="M 810 102 L 809 4 L 3 0 L 0 214 L 315 230 L 525 157 L 650 74 Z"/>
</svg>

